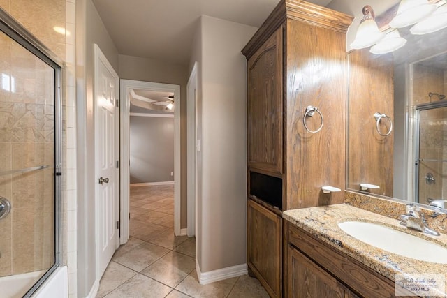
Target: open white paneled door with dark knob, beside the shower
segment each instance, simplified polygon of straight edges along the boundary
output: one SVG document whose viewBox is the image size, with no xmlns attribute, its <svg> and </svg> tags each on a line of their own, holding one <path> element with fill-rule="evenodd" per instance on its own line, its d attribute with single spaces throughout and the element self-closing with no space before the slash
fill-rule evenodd
<svg viewBox="0 0 447 298">
<path fill-rule="evenodd" d="M 119 246 L 119 77 L 95 45 L 96 278 Z"/>
</svg>

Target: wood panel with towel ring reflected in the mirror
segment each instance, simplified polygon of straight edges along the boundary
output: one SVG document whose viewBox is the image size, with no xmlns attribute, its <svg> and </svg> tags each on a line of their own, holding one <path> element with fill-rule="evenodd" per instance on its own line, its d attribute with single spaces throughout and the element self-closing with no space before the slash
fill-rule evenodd
<svg viewBox="0 0 447 298">
<path fill-rule="evenodd" d="M 374 55 L 368 49 L 349 53 L 349 145 L 348 188 L 359 191 L 360 184 L 380 186 L 371 190 L 393 196 L 393 135 L 377 133 L 375 112 L 394 121 L 393 57 Z M 389 129 L 381 121 L 382 133 Z"/>
</svg>

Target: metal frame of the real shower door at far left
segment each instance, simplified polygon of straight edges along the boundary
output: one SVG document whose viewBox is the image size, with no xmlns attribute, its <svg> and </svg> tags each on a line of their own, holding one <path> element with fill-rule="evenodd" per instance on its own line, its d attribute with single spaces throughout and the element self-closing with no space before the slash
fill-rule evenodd
<svg viewBox="0 0 447 298">
<path fill-rule="evenodd" d="M 62 70 L 64 62 L 40 40 L 29 33 L 6 11 L 0 8 L 0 31 L 17 44 L 41 59 L 54 70 L 54 264 L 28 290 L 24 298 L 31 297 L 48 277 L 62 265 Z"/>
</svg>

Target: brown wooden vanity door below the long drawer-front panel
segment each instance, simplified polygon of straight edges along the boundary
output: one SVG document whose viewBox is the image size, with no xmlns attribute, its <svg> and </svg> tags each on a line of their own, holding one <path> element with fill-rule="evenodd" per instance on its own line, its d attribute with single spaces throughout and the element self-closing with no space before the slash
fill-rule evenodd
<svg viewBox="0 0 447 298">
<path fill-rule="evenodd" d="M 290 245 L 287 276 L 287 292 L 291 297 L 349 297 L 344 285 Z"/>
</svg>

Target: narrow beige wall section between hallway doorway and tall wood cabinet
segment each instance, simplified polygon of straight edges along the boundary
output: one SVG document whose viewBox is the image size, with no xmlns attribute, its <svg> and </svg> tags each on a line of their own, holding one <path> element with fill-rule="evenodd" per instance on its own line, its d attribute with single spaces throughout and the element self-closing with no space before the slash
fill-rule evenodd
<svg viewBox="0 0 447 298">
<path fill-rule="evenodd" d="M 202 16 L 191 59 L 199 61 L 198 265 L 246 264 L 247 84 L 242 47 L 255 27 Z M 200 54 L 200 57 L 198 57 Z"/>
</svg>

